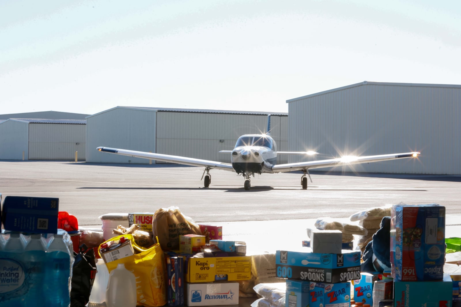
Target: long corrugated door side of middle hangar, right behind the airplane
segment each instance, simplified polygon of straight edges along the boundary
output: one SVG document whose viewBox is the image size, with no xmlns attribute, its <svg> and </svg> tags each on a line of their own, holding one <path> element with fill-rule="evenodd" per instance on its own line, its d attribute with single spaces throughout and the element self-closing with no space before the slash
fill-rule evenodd
<svg viewBox="0 0 461 307">
<path fill-rule="evenodd" d="M 284 150 L 288 143 L 288 117 L 271 118 L 271 135 L 278 150 Z M 232 150 L 242 134 L 263 133 L 266 125 L 266 115 L 159 111 L 157 153 L 230 162 L 230 155 L 219 151 Z M 287 157 L 282 156 L 281 161 L 286 162 Z"/>
</svg>

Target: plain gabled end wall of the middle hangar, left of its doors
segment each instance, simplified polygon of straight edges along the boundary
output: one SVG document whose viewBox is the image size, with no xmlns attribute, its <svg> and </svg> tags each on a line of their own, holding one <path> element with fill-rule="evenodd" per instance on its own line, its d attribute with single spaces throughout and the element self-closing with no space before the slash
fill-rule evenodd
<svg viewBox="0 0 461 307">
<path fill-rule="evenodd" d="M 97 151 L 98 146 L 155 152 L 155 110 L 116 107 L 87 117 L 86 161 L 148 163 L 149 160 Z"/>
</svg>

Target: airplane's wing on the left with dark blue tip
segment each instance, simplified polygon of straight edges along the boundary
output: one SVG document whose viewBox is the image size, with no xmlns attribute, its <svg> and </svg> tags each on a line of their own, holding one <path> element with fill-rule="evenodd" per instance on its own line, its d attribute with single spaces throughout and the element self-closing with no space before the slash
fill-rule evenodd
<svg viewBox="0 0 461 307">
<path fill-rule="evenodd" d="M 118 155 L 133 156 L 136 158 L 144 158 L 144 159 L 149 159 L 149 160 L 157 160 L 157 161 L 163 161 L 163 162 L 171 162 L 171 163 L 177 163 L 177 164 L 206 167 L 210 169 L 216 168 L 216 169 L 222 169 L 225 171 L 234 172 L 234 168 L 232 168 L 231 163 L 201 160 L 201 159 L 189 158 L 185 156 L 171 156 L 171 155 L 164 155 L 164 154 L 145 152 L 145 151 L 130 151 L 126 149 L 117 149 L 117 148 L 109 148 L 109 147 L 102 147 L 102 146 L 96 149 L 98 151 L 110 152 L 110 153 L 114 153 Z"/>
</svg>

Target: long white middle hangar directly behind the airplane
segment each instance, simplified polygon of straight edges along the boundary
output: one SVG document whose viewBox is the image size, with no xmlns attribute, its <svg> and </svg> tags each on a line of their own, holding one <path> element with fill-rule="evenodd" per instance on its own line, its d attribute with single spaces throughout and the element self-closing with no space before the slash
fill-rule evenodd
<svg viewBox="0 0 461 307">
<path fill-rule="evenodd" d="M 242 134 L 264 132 L 268 114 L 278 150 L 288 151 L 287 113 L 118 106 L 86 117 L 86 161 L 149 163 L 96 150 L 105 146 L 230 162 L 219 151 L 232 150 Z M 288 157 L 279 159 L 284 163 Z"/>
</svg>

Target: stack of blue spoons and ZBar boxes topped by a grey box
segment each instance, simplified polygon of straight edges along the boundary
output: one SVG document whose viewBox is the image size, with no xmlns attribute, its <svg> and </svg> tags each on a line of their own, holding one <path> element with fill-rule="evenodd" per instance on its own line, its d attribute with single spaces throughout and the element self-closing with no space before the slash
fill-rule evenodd
<svg viewBox="0 0 461 307">
<path fill-rule="evenodd" d="M 276 274 L 286 280 L 286 307 L 349 307 L 350 280 L 360 279 L 360 251 L 341 250 L 341 232 L 315 231 L 311 249 L 276 251 Z M 304 248 L 303 248 L 304 249 Z"/>
</svg>

